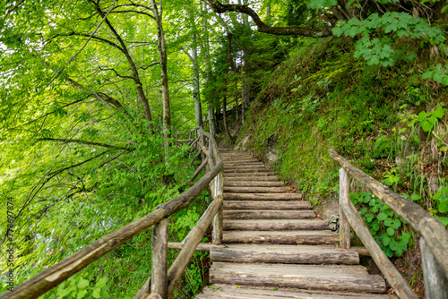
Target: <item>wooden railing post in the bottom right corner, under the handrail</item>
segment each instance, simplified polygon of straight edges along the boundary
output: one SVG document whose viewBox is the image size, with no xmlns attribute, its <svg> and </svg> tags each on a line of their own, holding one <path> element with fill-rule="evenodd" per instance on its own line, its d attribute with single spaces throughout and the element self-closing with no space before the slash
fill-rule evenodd
<svg viewBox="0 0 448 299">
<path fill-rule="evenodd" d="M 448 278 L 444 270 L 435 261 L 433 252 L 420 237 L 420 252 L 423 261 L 423 278 L 425 279 L 425 295 L 427 299 L 444 299 L 448 290 Z"/>
</svg>

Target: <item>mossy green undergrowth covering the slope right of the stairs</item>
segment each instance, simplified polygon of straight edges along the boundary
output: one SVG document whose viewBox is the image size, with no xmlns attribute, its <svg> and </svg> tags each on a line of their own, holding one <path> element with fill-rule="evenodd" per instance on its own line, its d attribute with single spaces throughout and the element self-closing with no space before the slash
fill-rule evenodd
<svg viewBox="0 0 448 299">
<path fill-rule="evenodd" d="M 270 75 L 252 103 L 239 142 L 280 156 L 272 166 L 316 206 L 337 197 L 336 150 L 367 174 L 448 225 L 447 92 L 422 78 L 426 66 L 368 65 L 343 39 L 306 40 Z M 415 235 L 386 205 L 352 181 L 352 201 L 376 241 L 400 257 Z"/>
</svg>

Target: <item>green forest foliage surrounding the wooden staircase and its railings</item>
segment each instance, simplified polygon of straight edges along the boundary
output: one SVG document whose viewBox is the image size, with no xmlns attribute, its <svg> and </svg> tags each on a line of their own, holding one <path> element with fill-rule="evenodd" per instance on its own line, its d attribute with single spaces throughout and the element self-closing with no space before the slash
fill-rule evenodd
<svg viewBox="0 0 448 299">
<path fill-rule="evenodd" d="M 337 188 L 332 147 L 448 224 L 447 11 L 437 0 L 0 3 L 0 242 L 3 253 L 10 201 L 15 283 L 183 192 L 200 161 L 172 134 L 202 124 L 230 143 L 249 134 L 256 152 L 275 145 L 274 166 L 315 204 Z M 388 207 L 351 197 L 389 256 L 412 246 Z M 170 241 L 209 202 L 205 192 L 170 218 Z M 147 232 L 47 296 L 133 297 L 150 261 Z M 200 292 L 205 269 L 197 252 L 175 296 Z"/>
</svg>

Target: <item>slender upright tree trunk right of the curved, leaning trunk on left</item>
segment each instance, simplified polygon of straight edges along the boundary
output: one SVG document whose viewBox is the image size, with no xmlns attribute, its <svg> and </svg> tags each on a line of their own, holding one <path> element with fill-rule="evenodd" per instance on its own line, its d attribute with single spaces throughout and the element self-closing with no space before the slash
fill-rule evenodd
<svg viewBox="0 0 448 299">
<path fill-rule="evenodd" d="M 152 13 L 157 23 L 157 47 L 159 48 L 161 81 L 162 81 L 162 105 L 163 105 L 163 134 L 167 140 L 171 137 L 171 109 L 169 107 L 169 90 L 168 90 L 168 70 L 167 70 L 167 47 L 165 44 L 165 35 L 162 26 L 162 7 L 160 2 L 160 10 L 157 8 L 155 0 L 151 0 Z"/>
</svg>

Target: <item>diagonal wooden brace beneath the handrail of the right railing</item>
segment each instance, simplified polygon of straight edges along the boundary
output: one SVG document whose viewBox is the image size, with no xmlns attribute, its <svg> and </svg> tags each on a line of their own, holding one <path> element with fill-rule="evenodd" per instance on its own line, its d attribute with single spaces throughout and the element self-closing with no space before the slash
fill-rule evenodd
<svg viewBox="0 0 448 299">
<path fill-rule="evenodd" d="M 375 242 L 374 237 L 370 234 L 369 229 L 363 219 L 359 216 L 358 210 L 353 206 L 351 201 L 349 201 L 349 204 L 343 204 L 342 210 L 347 217 L 350 226 L 358 235 L 361 242 L 366 245 L 376 266 L 378 266 L 378 269 L 383 273 L 384 278 L 387 279 L 387 282 L 392 286 L 397 295 L 400 298 L 417 299 L 417 295 L 414 294 L 406 280 L 401 277 L 400 272 L 395 269 L 392 262 L 389 261 L 383 250 Z"/>
</svg>

